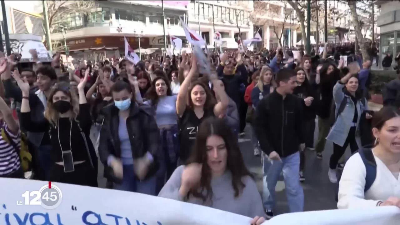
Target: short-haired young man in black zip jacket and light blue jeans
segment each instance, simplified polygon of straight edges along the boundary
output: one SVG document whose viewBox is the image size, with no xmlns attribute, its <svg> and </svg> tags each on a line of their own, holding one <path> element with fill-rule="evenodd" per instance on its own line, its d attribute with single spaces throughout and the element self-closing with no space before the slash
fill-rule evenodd
<svg viewBox="0 0 400 225">
<path fill-rule="evenodd" d="M 276 74 L 276 90 L 257 106 L 254 128 L 260 147 L 269 156 L 266 175 L 268 199 L 264 199 L 267 217 L 274 214 L 275 186 L 283 171 L 290 212 L 303 211 L 304 193 L 299 181 L 299 148 L 304 148 L 303 106 L 293 93 L 297 86 L 294 70 L 281 69 Z"/>
</svg>

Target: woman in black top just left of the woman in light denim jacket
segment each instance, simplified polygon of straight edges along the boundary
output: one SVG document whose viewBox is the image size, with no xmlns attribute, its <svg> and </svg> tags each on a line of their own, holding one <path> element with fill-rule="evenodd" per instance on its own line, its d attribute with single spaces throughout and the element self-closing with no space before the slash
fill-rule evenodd
<svg viewBox="0 0 400 225">
<path fill-rule="evenodd" d="M 322 65 L 320 69 L 320 101 L 318 105 L 318 139 L 315 145 L 316 157 L 322 159 L 322 151 L 324 151 L 326 136 L 328 136 L 332 122 L 330 121 L 330 110 L 333 100 L 333 87 L 340 80 L 340 68 L 343 63 L 339 64 L 339 69 L 329 62 Z"/>
</svg>

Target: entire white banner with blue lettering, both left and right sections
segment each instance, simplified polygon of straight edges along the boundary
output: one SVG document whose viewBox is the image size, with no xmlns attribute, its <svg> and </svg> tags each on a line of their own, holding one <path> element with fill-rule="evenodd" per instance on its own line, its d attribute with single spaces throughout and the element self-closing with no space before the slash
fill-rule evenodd
<svg viewBox="0 0 400 225">
<path fill-rule="evenodd" d="M 1 225 L 249 225 L 251 218 L 150 195 L 0 178 Z M 49 188 L 50 185 L 50 188 Z M 243 206 L 245 207 L 245 206 Z M 394 206 L 286 213 L 264 225 L 398 225 Z"/>
</svg>

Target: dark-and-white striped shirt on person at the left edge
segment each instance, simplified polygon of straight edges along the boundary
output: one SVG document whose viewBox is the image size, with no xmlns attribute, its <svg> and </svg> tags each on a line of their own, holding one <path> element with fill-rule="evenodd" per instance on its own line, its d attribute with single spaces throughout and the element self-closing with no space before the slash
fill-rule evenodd
<svg viewBox="0 0 400 225">
<path fill-rule="evenodd" d="M 21 149 L 21 135 L 18 130 L 18 134 L 14 135 L 9 130 L 7 125 L 4 123 L 0 131 L 4 129 L 5 132 L 10 135 L 14 143 L 16 143 L 18 149 Z M 17 151 L 11 144 L 8 144 L 3 137 L 0 135 L 0 177 L 7 176 L 21 167 L 20 157 Z"/>
</svg>

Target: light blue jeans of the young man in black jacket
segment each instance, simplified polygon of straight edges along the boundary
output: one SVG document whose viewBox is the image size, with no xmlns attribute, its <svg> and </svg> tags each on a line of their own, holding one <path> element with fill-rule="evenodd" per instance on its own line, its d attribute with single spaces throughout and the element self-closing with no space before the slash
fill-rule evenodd
<svg viewBox="0 0 400 225">
<path fill-rule="evenodd" d="M 275 186 L 280 172 L 283 171 L 289 211 L 302 212 L 304 211 L 304 192 L 299 181 L 300 154 L 296 152 L 281 159 L 282 162 L 273 160 L 268 168 L 266 182 L 270 195 L 264 202 L 264 207 L 266 210 L 272 210 L 275 207 Z"/>
</svg>

